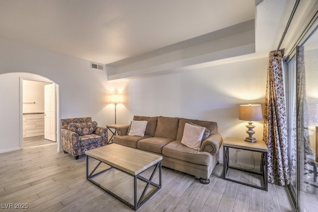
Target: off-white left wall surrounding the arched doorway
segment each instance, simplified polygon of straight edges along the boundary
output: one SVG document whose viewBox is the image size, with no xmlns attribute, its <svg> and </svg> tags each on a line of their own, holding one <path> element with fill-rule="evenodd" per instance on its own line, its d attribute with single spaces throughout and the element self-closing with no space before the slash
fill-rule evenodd
<svg viewBox="0 0 318 212">
<path fill-rule="evenodd" d="M 107 89 L 112 83 L 107 82 L 106 71 L 89 66 L 86 60 L 0 38 L 0 152 L 20 149 L 21 72 L 39 74 L 59 84 L 61 119 L 90 116 L 100 126 L 107 120 L 112 123 L 113 114 L 107 107 Z"/>
</svg>

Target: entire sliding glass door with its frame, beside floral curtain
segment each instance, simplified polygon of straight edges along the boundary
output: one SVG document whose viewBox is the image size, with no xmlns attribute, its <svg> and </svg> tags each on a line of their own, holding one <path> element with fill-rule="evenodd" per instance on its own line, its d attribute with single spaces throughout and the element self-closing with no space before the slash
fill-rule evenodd
<svg viewBox="0 0 318 212">
<path fill-rule="evenodd" d="M 288 116 L 288 185 L 300 212 L 318 209 L 318 15 L 285 61 Z"/>
</svg>

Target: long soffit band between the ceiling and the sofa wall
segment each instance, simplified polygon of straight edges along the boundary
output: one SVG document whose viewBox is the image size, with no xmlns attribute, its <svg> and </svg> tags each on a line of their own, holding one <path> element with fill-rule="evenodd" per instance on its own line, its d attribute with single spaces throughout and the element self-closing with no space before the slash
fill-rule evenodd
<svg viewBox="0 0 318 212">
<path fill-rule="evenodd" d="M 107 64 L 109 80 L 193 67 L 255 53 L 254 19 L 178 42 L 146 54 Z"/>
</svg>

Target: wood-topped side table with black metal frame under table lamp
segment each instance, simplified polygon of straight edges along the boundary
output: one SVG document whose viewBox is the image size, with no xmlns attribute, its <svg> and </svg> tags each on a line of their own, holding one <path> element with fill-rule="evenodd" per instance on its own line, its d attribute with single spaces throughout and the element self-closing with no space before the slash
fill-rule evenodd
<svg viewBox="0 0 318 212">
<path fill-rule="evenodd" d="M 223 163 L 223 179 L 267 191 L 268 190 L 268 183 L 267 183 L 267 152 L 268 152 L 268 148 L 267 148 L 266 143 L 264 141 L 257 141 L 257 142 L 251 143 L 251 142 L 244 141 L 243 139 L 227 137 L 223 141 L 222 144 L 223 144 L 223 161 L 224 161 L 224 163 Z M 237 148 L 237 149 L 256 151 L 256 152 L 262 153 L 262 156 L 263 156 L 263 164 L 262 164 L 263 170 L 262 170 L 262 172 L 258 173 L 258 172 L 253 172 L 253 171 L 244 170 L 244 169 L 241 169 L 238 167 L 230 166 L 229 165 L 229 156 L 230 156 L 229 155 L 229 148 Z M 264 186 L 257 186 L 257 185 L 253 185 L 253 184 L 249 184 L 249 183 L 245 183 L 245 182 L 241 182 L 238 180 L 228 178 L 227 172 L 228 172 L 229 168 L 248 172 L 248 173 L 253 173 L 253 174 L 257 174 L 257 175 L 262 175 Z"/>
</svg>

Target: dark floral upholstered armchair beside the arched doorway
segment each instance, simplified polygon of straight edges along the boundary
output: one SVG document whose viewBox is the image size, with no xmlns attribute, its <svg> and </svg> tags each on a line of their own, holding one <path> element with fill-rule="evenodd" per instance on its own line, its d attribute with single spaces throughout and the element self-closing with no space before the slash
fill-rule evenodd
<svg viewBox="0 0 318 212">
<path fill-rule="evenodd" d="M 86 150 L 107 145 L 107 128 L 97 127 L 91 117 L 61 119 L 61 141 L 64 153 L 79 159 Z"/>
</svg>

